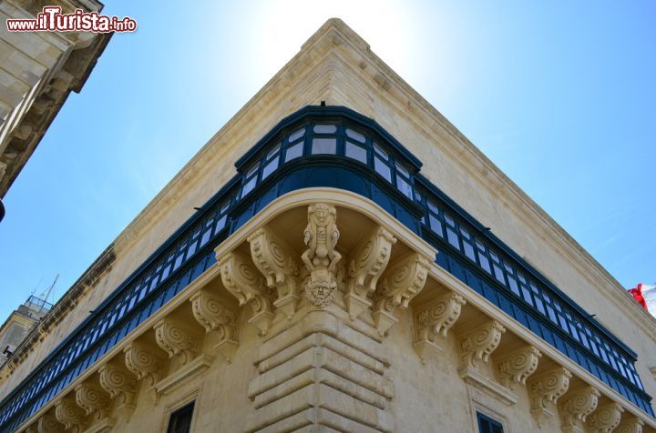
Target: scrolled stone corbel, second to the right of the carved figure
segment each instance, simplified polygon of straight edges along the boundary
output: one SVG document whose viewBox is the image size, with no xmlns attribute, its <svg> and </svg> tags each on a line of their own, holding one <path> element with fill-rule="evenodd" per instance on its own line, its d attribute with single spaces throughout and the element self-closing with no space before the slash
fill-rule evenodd
<svg viewBox="0 0 656 433">
<path fill-rule="evenodd" d="M 385 271 L 381 287 L 375 295 L 376 305 L 372 315 L 381 337 L 398 322 L 396 307 L 407 308 L 410 300 L 424 288 L 428 267 L 428 260 L 415 253 Z"/>
</svg>

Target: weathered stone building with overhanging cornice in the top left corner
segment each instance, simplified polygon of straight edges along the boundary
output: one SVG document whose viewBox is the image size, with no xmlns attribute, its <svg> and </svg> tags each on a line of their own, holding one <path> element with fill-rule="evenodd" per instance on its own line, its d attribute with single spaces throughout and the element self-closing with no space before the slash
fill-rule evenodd
<svg viewBox="0 0 656 433">
<path fill-rule="evenodd" d="M 0 2 L 0 220 L 2 198 L 72 91 L 79 93 L 110 34 L 10 33 L 7 18 L 35 18 L 44 5 L 63 13 L 100 11 L 96 0 Z"/>
</svg>

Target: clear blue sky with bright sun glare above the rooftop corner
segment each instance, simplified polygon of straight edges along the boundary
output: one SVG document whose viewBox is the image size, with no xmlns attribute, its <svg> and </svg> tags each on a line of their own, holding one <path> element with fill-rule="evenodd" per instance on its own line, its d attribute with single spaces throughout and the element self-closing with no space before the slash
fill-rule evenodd
<svg viewBox="0 0 656 433">
<path fill-rule="evenodd" d="M 5 196 L 1 320 L 56 274 L 60 297 L 331 16 L 624 287 L 656 280 L 655 2 L 107 3 L 138 32 L 112 38 Z"/>
</svg>

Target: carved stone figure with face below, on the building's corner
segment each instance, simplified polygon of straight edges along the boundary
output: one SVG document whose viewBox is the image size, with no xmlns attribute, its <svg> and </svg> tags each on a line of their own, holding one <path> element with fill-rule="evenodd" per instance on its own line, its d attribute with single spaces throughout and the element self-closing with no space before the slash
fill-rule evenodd
<svg viewBox="0 0 656 433">
<path fill-rule="evenodd" d="M 327 307 L 335 297 L 337 264 L 342 259 L 335 249 L 339 237 L 335 207 L 325 203 L 308 206 L 308 224 L 303 231 L 307 249 L 301 258 L 310 272 L 305 296 L 313 307 Z"/>
</svg>

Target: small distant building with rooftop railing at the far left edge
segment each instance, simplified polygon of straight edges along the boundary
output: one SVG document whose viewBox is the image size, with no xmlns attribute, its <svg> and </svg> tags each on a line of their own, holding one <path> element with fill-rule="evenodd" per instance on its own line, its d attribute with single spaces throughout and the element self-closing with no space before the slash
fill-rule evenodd
<svg viewBox="0 0 656 433">
<path fill-rule="evenodd" d="M 23 342 L 41 317 L 46 316 L 50 308 L 52 308 L 52 304 L 46 300 L 31 296 L 9 315 L 3 326 L 0 327 L 0 350 L 2 350 L 0 367 L 5 364 L 8 357 L 14 354 L 15 348 Z"/>
</svg>

